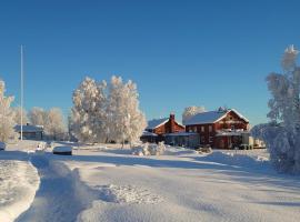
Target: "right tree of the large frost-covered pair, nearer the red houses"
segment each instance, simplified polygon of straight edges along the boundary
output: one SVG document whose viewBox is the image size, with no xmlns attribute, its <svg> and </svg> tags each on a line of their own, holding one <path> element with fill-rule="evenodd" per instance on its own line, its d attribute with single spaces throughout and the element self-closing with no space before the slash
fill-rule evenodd
<svg viewBox="0 0 300 222">
<path fill-rule="evenodd" d="M 139 140 L 147 122 L 139 109 L 139 93 L 132 81 L 123 83 L 120 77 L 111 78 L 107 113 L 109 140 L 122 143 Z"/>
</svg>

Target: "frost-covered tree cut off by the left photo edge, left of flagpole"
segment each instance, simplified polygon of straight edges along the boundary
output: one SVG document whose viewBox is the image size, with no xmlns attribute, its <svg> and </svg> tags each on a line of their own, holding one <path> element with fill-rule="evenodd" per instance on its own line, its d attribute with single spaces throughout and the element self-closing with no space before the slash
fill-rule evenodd
<svg viewBox="0 0 300 222">
<path fill-rule="evenodd" d="M 6 83 L 0 80 L 0 141 L 7 142 L 16 135 L 14 132 L 14 112 L 11 109 L 13 97 L 6 97 Z"/>
</svg>

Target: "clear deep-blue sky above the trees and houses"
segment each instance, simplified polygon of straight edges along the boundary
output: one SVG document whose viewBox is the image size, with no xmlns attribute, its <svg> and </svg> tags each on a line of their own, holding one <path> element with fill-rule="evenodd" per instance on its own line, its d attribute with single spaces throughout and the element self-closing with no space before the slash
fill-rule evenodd
<svg viewBox="0 0 300 222">
<path fill-rule="evenodd" d="M 184 107 L 236 108 L 266 122 L 266 75 L 300 47 L 300 1 L 1 1 L 0 78 L 26 108 L 67 113 L 80 81 L 112 74 L 138 83 L 148 119 Z M 14 104 L 17 105 L 17 103 Z"/>
</svg>

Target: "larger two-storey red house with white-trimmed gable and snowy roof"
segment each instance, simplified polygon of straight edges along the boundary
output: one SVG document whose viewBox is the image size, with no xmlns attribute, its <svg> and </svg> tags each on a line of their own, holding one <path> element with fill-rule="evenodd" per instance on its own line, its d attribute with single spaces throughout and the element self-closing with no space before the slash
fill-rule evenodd
<svg viewBox="0 0 300 222">
<path fill-rule="evenodd" d="M 233 109 L 198 113 L 186 122 L 187 132 L 200 134 L 201 145 L 233 149 L 249 138 L 249 120 Z"/>
</svg>

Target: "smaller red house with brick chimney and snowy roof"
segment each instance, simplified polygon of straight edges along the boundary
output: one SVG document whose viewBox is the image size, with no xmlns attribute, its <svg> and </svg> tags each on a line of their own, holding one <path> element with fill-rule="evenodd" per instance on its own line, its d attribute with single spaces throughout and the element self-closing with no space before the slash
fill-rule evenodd
<svg viewBox="0 0 300 222">
<path fill-rule="evenodd" d="M 174 114 L 171 113 L 169 118 L 148 121 L 148 127 L 146 128 L 141 140 L 143 142 L 159 142 L 164 140 L 164 134 L 184 131 L 184 125 L 177 122 Z"/>
</svg>

